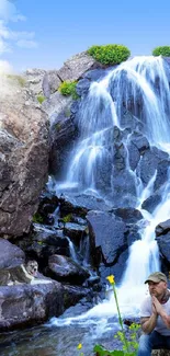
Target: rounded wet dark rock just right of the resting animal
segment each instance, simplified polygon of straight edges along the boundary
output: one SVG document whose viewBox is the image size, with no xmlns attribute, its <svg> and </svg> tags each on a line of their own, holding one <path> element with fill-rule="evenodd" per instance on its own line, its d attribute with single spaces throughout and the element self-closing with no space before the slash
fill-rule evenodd
<svg viewBox="0 0 170 356">
<path fill-rule="evenodd" d="M 88 269 L 67 256 L 52 255 L 48 260 L 47 275 L 59 282 L 81 285 L 89 276 Z"/>
</svg>

